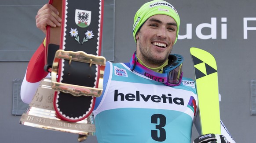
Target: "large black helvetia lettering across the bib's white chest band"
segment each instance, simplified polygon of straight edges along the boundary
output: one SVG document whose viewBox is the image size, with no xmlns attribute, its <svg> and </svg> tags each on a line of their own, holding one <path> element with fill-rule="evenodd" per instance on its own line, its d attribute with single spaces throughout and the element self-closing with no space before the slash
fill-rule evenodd
<svg viewBox="0 0 256 143">
<path fill-rule="evenodd" d="M 115 90 L 114 101 L 153 101 L 156 103 L 168 103 L 176 105 L 184 105 L 183 98 L 173 98 L 172 94 L 162 94 L 162 95 L 144 95 L 140 94 L 139 91 L 136 91 L 135 94 L 132 93 L 119 93 L 118 90 Z"/>
</svg>

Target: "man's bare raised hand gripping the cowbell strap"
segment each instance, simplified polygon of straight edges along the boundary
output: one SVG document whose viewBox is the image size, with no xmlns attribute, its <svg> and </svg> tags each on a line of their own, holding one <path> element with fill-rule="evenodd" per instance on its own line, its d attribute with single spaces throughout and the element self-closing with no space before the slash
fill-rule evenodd
<svg viewBox="0 0 256 143">
<path fill-rule="evenodd" d="M 36 16 L 37 28 L 42 30 L 46 34 L 46 26 L 49 25 L 53 28 L 61 25 L 61 18 L 59 17 L 59 11 L 51 4 L 45 4 L 37 12 Z"/>
</svg>

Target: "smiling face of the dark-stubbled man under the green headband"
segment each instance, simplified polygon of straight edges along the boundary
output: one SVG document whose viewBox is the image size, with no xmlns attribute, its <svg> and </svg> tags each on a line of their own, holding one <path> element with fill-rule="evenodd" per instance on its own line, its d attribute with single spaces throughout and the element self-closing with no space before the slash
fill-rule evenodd
<svg viewBox="0 0 256 143">
<path fill-rule="evenodd" d="M 148 18 L 135 36 L 137 56 L 146 66 L 161 66 L 172 51 L 176 34 L 177 24 L 172 17 L 157 14 Z"/>
</svg>

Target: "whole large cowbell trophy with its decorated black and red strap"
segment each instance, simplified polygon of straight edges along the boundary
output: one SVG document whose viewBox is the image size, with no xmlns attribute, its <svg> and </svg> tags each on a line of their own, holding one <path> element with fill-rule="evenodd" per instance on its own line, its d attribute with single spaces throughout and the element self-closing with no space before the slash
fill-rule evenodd
<svg viewBox="0 0 256 143">
<path fill-rule="evenodd" d="M 95 134 L 92 110 L 101 96 L 106 59 L 101 54 L 103 0 L 49 0 L 62 18 L 47 27 L 44 78 L 20 119 L 27 126 L 79 134 Z M 55 55 L 54 55 L 55 54 Z M 50 65 L 52 63 L 52 65 Z"/>
</svg>

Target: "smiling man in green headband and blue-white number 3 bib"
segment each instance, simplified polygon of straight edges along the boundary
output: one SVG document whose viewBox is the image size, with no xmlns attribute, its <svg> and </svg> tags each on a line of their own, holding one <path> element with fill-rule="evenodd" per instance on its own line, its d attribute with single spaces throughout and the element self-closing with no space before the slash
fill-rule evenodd
<svg viewBox="0 0 256 143">
<path fill-rule="evenodd" d="M 44 5 L 36 16 L 37 27 L 46 33 L 47 25 L 60 26 L 58 14 L 55 7 Z M 194 84 L 182 81 L 194 82 L 182 77 L 182 56 L 170 55 L 179 25 L 176 9 L 166 1 L 150 1 L 137 11 L 132 59 L 106 64 L 103 93 L 93 111 L 99 143 L 190 143 L 193 123 L 201 134 Z M 43 57 L 44 44 L 32 57 L 37 61 L 30 60 L 22 84 L 22 100 L 27 103 L 48 74 Z M 200 136 L 194 142 L 235 143 L 224 126 L 222 135 Z"/>
</svg>

